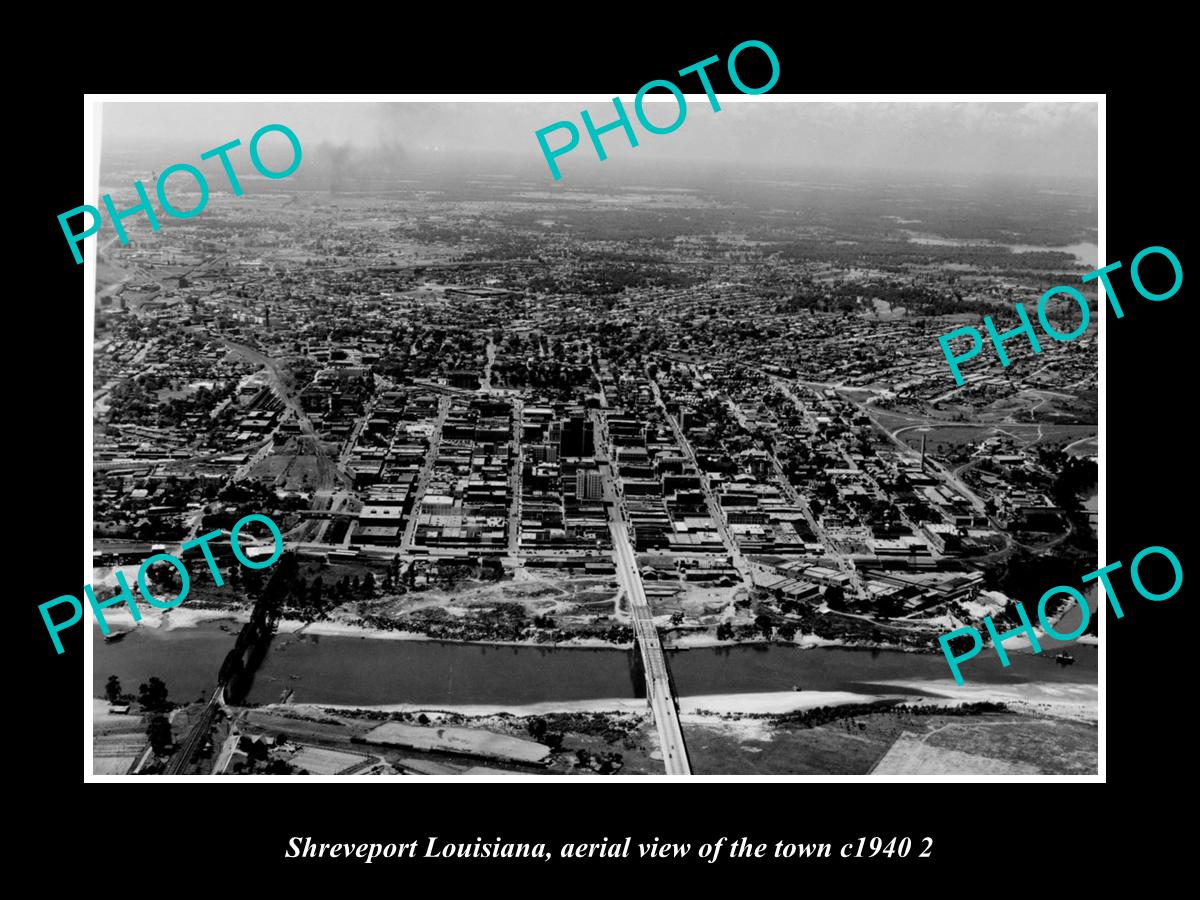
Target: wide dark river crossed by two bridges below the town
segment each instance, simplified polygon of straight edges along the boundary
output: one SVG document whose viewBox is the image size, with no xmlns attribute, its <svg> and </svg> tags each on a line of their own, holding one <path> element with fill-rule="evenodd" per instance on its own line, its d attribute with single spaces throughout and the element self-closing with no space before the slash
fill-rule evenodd
<svg viewBox="0 0 1200 900">
<path fill-rule="evenodd" d="M 172 700 L 203 697 L 216 686 L 216 673 L 234 634 L 222 623 L 158 631 L 139 628 L 106 643 L 95 632 L 96 696 L 108 676 L 126 691 L 150 676 L 167 683 Z M 226 624 L 226 628 L 229 625 Z M 1064 622 L 1062 630 L 1068 630 Z M 1096 683 L 1096 647 L 1072 644 L 1076 662 L 1058 666 L 1049 654 L 1013 652 L 1001 668 L 990 650 L 964 665 L 974 683 L 1028 680 Z M 277 635 L 250 692 L 252 703 L 276 702 L 288 690 L 310 703 L 539 703 L 643 696 L 644 686 L 620 649 L 503 647 L 437 641 L 390 641 L 344 636 Z M 670 652 L 680 695 L 842 690 L 863 694 L 883 689 L 883 680 L 949 678 L 938 654 L 844 648 L 798 649 L 780 644 L 714 647 Z M 895 692 L 894 689 L 888 689 Z"/>
</svg>

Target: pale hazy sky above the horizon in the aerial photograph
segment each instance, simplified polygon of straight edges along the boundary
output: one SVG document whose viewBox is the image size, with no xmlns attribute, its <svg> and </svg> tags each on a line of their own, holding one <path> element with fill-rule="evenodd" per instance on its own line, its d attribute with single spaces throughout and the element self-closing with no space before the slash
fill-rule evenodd
<svg viewBox="0 0 1200 900">
<path fill-rule="evenodd" d="M 676 114 L 674 100 L 648 102 L 647 114 L 662 126 Z M 764 95 L 769 98 L 769 95 Z M 606 174 L 638 161 L 702 160 L 724 163 L 907 169 L 929 173 L 1096 176 L 1094 103 L 791 103 L 738 102 L 720 95 L 714 113 L 703 95 L 688 96 L 688 115 L 671 134 L 644 131 L 632 97 L 622 97 L 638 137 L 631 149 L 620 130 L 604 136 Z M 104 139 L 138 139 L 143 146 L 185 142 L 197 152 L 282 122 L 301 145 L 350 143 L 361 149 L 396 149 L 413 156 L 493 151 L 528 157 L 550 178 L 534 138 L 538 128 L 569 120 L 580 145 L 559 157 L 564 175 L 587 174 L 601 163 L 588 140 L 580 110 L 598 126 L 614 119 L 611 100 L 509 103 L 104 103 Z M 280 139 L 272 136 L 272 139 Z M 565 131 L 550 136 L 557 148 Z M 186 160 L 180 160 L 186 161 Z"/>
</svg>

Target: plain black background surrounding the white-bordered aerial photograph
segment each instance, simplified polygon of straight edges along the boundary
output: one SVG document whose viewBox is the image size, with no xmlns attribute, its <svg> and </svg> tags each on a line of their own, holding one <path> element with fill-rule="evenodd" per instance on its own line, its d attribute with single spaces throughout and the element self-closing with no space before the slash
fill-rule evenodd
<svg viewBox="0 0 1200 900">
<path fill-rule="evenodd" d="M 56 656 L 36 608 L 60 594 L 79 593 L 74 541 L 82 522 L 74 515 L 80 490 L 90 497 L 80 484 L 79 445 L 91 407 L 80 404 L 77 380 L 89 365 L 90 341 L 84 341 L 82 358 L 71 361 L 79 352 L 82 329 L 74 316 L 80 312 L 83 266 L 74 264 L 55 220 L 84 202 L 79 186 L 83 95 L 74 85 L 43 84 L 28 104 L 26 121 L 38 130 L 38 139 L 28 144 L 32 158 L 22 164 L 37 178 L 23 179 L 26 184 L 20 187 L 28 197 L 19 209 L 24 212 L 19 232 L 7 242 L 11 270 L 24 275 L 29 266 L 20 293 L 10 296 L 13 328 L 8 342 L 17 349 L 7 392 L 8 445 L 17 455 L 10 479 L 36 485 L 28 499 L 14 504 L 19 510 L 10 512 L 10 572 L 18 576 L 12 578 L 17 595 L 10 619 L 18 632 L 10 646 L 18 646 L 24 658 L 19 694 L 10 697 L 12 714 L 20 715 L 10 731 L 13 744 L 18 740 L 13 731 L 20 732 L 19 769 L 10 772 L 22 776 L 14 781 L 25 782 L 16 790 L 31 792 L 16 815 L 37 850 L 61 860 L 74 844 L 74 852 L 90 860 L 90 876 L 100 878 L 109 866 L 126 874 L 131 868 L 169 866 L 186 881 L 187 868 L 194 866 L 209 875 L 203 883 L 214 889 L 224 889 L 220 872 L 280 875 L 286 870 L 316 884 L 317 863 L 301 866 L 282 859 L 292 835 L 338 842 L 401 842 L 430 834 L 473 841 L 476 835 L 500 835 L 554 846 L 626 834 L 635 842 L 659 836 L 692 844 L 746 835 L 769 844 L 828 841 L 835 852 L 841 842 L 862 835 L 908 835 L 918 846 L 920 836 L 935 839 L 935 854 L 925 860 L 764 858 L 708 865 L 695 853 L 682 863 L 605 860 L 596 874 L 607 872 L 611 881 L 594 883 L 607 890 L 637 884 L 628 877 L 630 866 L 640 869 L 640 877 L 647 869 L 670 870 L 672 876 L 688 869 L 702 876 L 704 884 L 734 878 L 751 890 L 800 890 L 827 881 L 850 886 L 848 878 L 857 884 L 864 875 L 881 884 L 901 883 L 893 882 L 895 877 L 908 882 L 904 875 L 917 875 L 911 883 L 926 889 L 998 880 L 1012 889 L 1057 890 L 1066 887 L 1060 880 L 1068 875 L 1105 864 L 1104 851 L 1098 854 L 1097 847 L 1115 845 L 1123 859 L 1136 859 L 1139 853 L 1172 858 L 1177 852 L 1172 842 L 1178 838 L 1158 817 L 1169 810 L 1176 785 L 1186 784 L 1192 767 L 1190 748 L 1178 730 L 1189 724 L 1182 713 L 1189 696 L 1184 667 L 1192 656 L 1192 636 L 1184 610 L 1192 569 L 1190 534 L 1183 524 L 1186 516 L 1194 515 L 1187 499 L 1193 493 L 1192 473 L 1184 463 L 1195 413 L 1194 332 L 1184 320 L 1187 282 L 1170 300 L 1152 304 L 1134 293 L 1127 275 L 1133 256 L 1150 245 L 1170 247 L 1188 270 L 1183 221 L 1193 212 L 1194 200 L 1184 158 L 1193 158 L 1194 149 L 1180 128 L 1186 121 L 1182 110 L 1190 103 L 1174 94 L 1170 67 L 1176 58 L 1160 43 L 1162 29 L 1153 42 L 1141 42 L 1128 30 L 1118 37 L 1111 31 L 1098 36 L 1081 22 L 1054 23 L 1042 13 L 1036 24 L 1009 17 L 1004 25 L 922 23 L 907 17 L 864 25 L 857 17 L 830 23 L 805 16 L 790 23 L 758 17 L 745 25 L 726 19 L 703 35 L 680 35 L 676 26 L 632 24 L 598 8 L 589 28 L 560 20 L 562 11 L 550 10 L 532 16 L 547 17 L 539 25 L 541 34 L 526 32 L 527 23 L 508 20 L 526 18 L 514 12 L 503 24 L 496 23 L 491 37 L 484 36 L 488 26 L 478 28 L 474 34 L 479 36 L 470 37 L 458 31 L 418 31 L 400 16 L 401 8 L 395 7 L 396 19 L 389 25 L 398 30 L 379 37 L 371 36 L 371 22 L 326 25 L 310 20 L 305 26 L 323 34 L 319 48 L 295 22 L 281 24 L 266 41 L 214 29 L 188 38 L 200 42 L 204 65 L 173 64 L 169 72 L 155 72 L 158 64 L 151 65 L 149 58 L 130 58 L 122 65 L 113 58 L 113 65 L 94 72 L 86 86 L 163 94 L 588 91 L 629 96 L 644 82 L 671 77 L 706 56 L 718 54 L 724 62 L 733 46 L 757 38 L 769 43 L 780 60 L 781 77 L 772 94 L 1108 94 L 1108 252 L 1102 262 L 1126 264 L 1114 278 L 1126 316 L 1117 320 L 1108 312 L 1105 319 L 1104 562 L 1121 559 L 1128 568 L 1139 550 L 1158 544 L 1175 551 L 1186 574 L 1183 589 L 1159 604 L 1136 598 L 1126 572 L 1114 578 L 1127 614 L 1120 622 L 1110 614 L 1102 631 L 1108 660 L 1108 784 L 877 784 L 863 779 L 786 785 L 433 785 L 397 779 L 301 786 L 235 785 L 229 779 L 222 788 L 215 782 L 194 782 L 191 788 L 162 782 L 142 787 L 140 781 L 84 785 L 83 628 L 62 634 L 66 653 Z M 1117 41 L 1120 55 L 1115 49 L 1102 50 L 1102 43 L 1111 47 Z M 214 59 L 222 60 L 221 65 Z M 756 52 L 739 58 L 739 72 L 750 85 L 766 80 L 766 70 L 755 72 L 756 59 L 761 59 Z M 1102 59 L 1099 68 L 1088 64 Z M 724 65 L 709 71 L 718 92 L 732 90 Z M 685 90 L 696 86 L 685 84 Z M 533 139 L 530 152 L 536 152 Z M 25 263 L 26 254 L 36 262 Z M 520 871 L 509 868 L 512 863 L 502 866 L 487 860 L 320 865 L 334 866 L 340 883 L 350 872 L 358 877 L 382 872 L 397 890 L 415 883 L 394 876 L 420 869 L 422 877 L 436 876 L 445 886 L 473 876 L 498 889 L 542 893 L 574 892 L 580 884 L 562 876 L 586 864 L 539 862 L 518 866 Z M 964 880 L 929 878 L 949 870 L 961 872 Z M 553 877 L 529 877 L 538 872 Z M 774 878 L 781 875 L 786 880 L 776 884 Z"/>
</svg>

